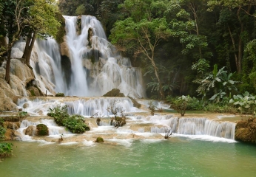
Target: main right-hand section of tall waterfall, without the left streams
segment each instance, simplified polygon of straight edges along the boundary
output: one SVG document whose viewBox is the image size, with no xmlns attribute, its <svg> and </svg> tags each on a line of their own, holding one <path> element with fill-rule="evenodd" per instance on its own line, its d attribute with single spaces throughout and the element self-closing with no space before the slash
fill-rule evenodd
<svg viewBox="0 0 256 177">
<path fill-rule="evenodd" d="M 118 88 L 126 96 L 145 97 L 141 71 L 107 41 L 101 23 L 93 16 L 64 16 L 71 71 L 67 95 L 101 96 Z M 81 34 L 77 31 L 81 20 Z M 92 36 L 89 32 L 92 31 Z M 90 39 L 91 38 L 91 39 Z"/>
</svg>

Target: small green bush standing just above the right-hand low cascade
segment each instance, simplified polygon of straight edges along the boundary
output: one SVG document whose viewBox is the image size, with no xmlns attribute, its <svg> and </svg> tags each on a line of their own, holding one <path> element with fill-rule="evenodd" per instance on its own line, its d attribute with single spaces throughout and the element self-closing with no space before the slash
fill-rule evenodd
<svg viewBox="0 0 256 177">
<path fill-rule="evenodd" d="M 182 95 L 181 97 L 178 97 L 178 99 L 174 100 L 171 104 L 171 107 L 175 109 L 179 114 L 181 114 L 181 117 L 183 117 L 186 113 L 186 108 L 189 102 L 189 99 L 191 99 L 188 96 Z"/>
</svg>

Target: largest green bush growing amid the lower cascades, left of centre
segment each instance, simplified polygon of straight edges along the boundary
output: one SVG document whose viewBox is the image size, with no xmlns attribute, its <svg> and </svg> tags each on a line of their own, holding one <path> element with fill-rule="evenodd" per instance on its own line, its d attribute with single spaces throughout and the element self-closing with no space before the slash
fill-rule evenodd
<svg viewBox="0 0 256 177">
<path fill-rule="evenodd" d="M 67 113 L 67 105 L 63 107 L 57 105 L 53 109 L 50 108 L 47 115 L 53 117 L 58 125 L 65 126 L 73 133 L 90 131 L 90 128 L 84 122 L 84 117 L 78 114 L 70 116 L 70 114 Z"/>
</svg>

